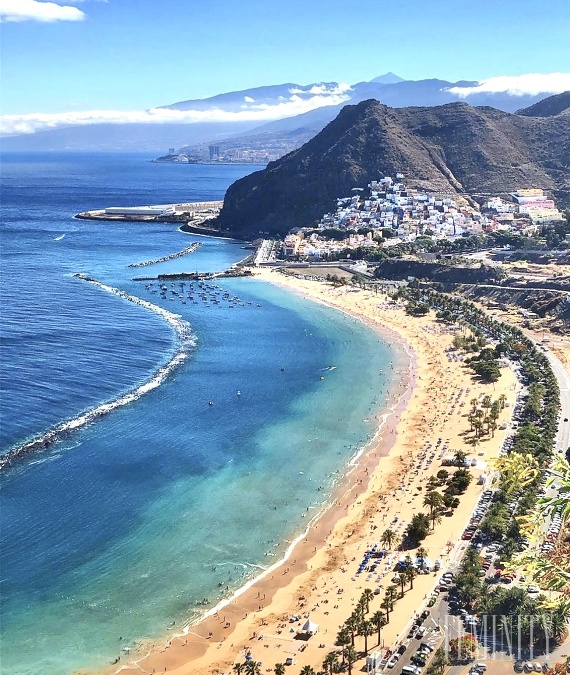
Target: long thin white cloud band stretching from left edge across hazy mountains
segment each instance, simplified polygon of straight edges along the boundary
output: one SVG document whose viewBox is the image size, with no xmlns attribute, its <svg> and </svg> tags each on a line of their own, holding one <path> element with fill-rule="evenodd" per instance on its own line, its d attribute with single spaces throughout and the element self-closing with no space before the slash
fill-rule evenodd
<svg viewBox="0 0 570 675">
<path fill-rule="evenodd" d="M 281 119 L 329 105 L 337 105 L 348 100 L 346 94 L 315 95 L 308 99 L 292 95 L 289 100 L 276 104 L 256 104 L 244 106 L 239 111 L 227 111 L 220 108 L 209 110 L 172 110 L 151 108 L 150 110 L 87 110 L 67 113 L 31 113 L 27 115 L 3 115 L 0 117 L 0 133 L 31 134 L 45 129 L 89 124 L 173 124 L 196 122 L 243 122 Z"/>
</svg>

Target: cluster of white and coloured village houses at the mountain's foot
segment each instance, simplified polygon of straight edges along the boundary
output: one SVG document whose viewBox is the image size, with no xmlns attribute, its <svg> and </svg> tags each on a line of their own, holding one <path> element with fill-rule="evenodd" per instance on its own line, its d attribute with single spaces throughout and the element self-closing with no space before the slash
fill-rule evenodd
<svg viewBox="0 0 570 675">
<path fill-rule="evenodd" d="M 453 240 L 496 231 L 532 236 L 544 224 L 564 220 L 554 200 L 539 188 L 493 196 L 479 206 L 456 194 L 410 189 L 398 173 L 353 193 L 339 198 L 334 213 L 325 214 L 314 227 L 291 230 L 283 256 L 321 260 L 347 249 L 385 248 L 418 237 Z"/>
</svg>

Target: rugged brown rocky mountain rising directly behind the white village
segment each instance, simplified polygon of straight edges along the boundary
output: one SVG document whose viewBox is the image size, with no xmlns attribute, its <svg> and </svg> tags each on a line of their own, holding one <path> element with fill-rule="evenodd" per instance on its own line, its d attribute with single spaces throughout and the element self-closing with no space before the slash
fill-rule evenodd
<svg viewBox="0 0 570 675">
<path fill-rule="evenodd" d="M 402 172 L 412 187 L 497 194 L 543 187 L 570 195 L 570 117 L 450 103 L 345 106 L 304 146 L 228 189 L 218 219 L 245 236 L 314 223 L 338 197 Z"/>
</svg>

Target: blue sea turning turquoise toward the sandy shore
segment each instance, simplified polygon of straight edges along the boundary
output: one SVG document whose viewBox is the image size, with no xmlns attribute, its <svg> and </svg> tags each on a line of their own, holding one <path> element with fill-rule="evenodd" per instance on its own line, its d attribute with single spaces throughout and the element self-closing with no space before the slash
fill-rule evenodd
<svg viewBox="0 0 570 675">
<path fill-rule="evenodd" d="M 197 602 L 215 605 L 278 560 L 370 439 L 393 384 L 397 357 L 375 333 L 279 288 L 224 280 L 204 300 L 132 281 L 247 253 L 171 224 L 73 219 L 221 199 L 257 168 L 149 159 L 2 156 L 0 452 L 140 385 L 177 349 L 160 316 L 74 273 L 181 315 L 195 339 L 160 387 L 2 476 L 3 675 L 124 661 L 122 647 L 195 619 Z M 128 267 L 197 240 L 189 256 Z"/>
</svg>

